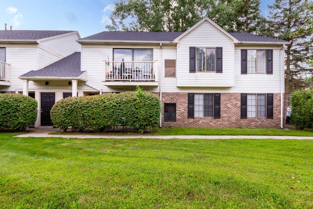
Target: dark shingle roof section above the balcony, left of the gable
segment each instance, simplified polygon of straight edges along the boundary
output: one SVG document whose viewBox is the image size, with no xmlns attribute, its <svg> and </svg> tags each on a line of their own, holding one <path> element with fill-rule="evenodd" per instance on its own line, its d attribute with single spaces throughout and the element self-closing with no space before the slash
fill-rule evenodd
<svg viewBox="0 0 313 209">
<path fill-rule="evenodd" d="M 183 32 L 103 31 L 79 40 L 172 41 Z"/>
</svg>

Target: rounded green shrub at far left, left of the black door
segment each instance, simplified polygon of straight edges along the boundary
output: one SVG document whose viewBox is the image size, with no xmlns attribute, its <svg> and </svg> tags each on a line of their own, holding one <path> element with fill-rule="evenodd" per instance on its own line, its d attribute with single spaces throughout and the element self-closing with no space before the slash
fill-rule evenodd
<svg viewBox="0 0 313 209">
<path fill-rule="evenodd" d="M 0 94 L 0 129 L 21 130 L 35 123 L 37 101 L 22 94 Z"/>
</svg>

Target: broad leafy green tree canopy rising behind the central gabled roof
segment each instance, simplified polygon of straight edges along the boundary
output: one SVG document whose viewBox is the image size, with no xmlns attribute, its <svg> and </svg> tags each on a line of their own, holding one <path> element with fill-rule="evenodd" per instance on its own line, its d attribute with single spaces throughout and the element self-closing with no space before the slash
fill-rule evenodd
<svg viewBox="0 0 313 209">
<path fill-rule="evenodd" d="M 228 32 L 255 32 L 259 0 L 121 0 L 115 2 L 109 30 L 186 31 L 204 16 Z"/>
</svg>

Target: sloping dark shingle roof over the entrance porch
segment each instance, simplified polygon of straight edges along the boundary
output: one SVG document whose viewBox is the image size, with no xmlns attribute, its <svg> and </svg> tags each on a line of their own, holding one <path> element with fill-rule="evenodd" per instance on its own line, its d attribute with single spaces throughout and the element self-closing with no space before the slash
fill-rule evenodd
<svg viewBox="0 0 313 209">
<path fill-rule="evenodd" d="M 20 77 L 79 77 L 85 71 L 80 71 L 80 52 L 64 57 L 37 71 L 29 71 Z"/>
</svg>

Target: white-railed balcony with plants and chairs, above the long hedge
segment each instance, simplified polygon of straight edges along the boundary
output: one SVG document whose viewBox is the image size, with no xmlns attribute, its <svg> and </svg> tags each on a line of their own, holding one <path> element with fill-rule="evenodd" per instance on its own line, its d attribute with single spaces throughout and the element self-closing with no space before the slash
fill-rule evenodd
<svg viewBox="0 0 313 209">
<path fill-rule="evenodd" d="M 158 86 L 155 61 L 103 61 L 105 86 Z"/>
</svg>

